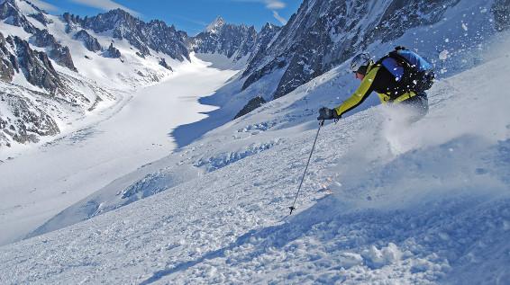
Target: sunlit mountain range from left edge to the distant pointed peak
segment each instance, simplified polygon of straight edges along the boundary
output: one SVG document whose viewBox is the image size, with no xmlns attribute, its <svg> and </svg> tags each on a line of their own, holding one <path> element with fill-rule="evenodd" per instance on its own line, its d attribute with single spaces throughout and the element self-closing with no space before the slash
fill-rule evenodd
<svg viewBox="0 0 510 285">
<path fill-rule="evenodd" d="M 58 135 L 66 129 L 63 125 L 120 102 L 122 96 L 114 90 L 168 78 L 175 67 L 189 62 L 190 52 L 213 61 L 214 67 L 242 69 L 279 30 L 268 24 L 258 33 L 219 17 L 203 33 L 188 37 L 173 25 L 143 22 L 121 9 L 85 18 L 54 16 L 27 0 L 2 1 L 0 21 L 0 78 L 9 87 L 5 91 L 18 90 L 2 107 L 4 148 L 23 148 Z M 219 65 L 222 61 L 228 63 Z M 88 87 L 81 90 L 76 85 Z M 33 103 L 46 101 L 39 99 L 41 94 L 49 95 L 46 99 L 59 95 L 60 101 L 50 103 L 52 110 L 59 110 L 58 117 L 45 104 Z M 64 102 L 71 108 L 59 106 Z M 20 111 L 26 114 L 21 120 L 15 115 Z"/>
</svg>

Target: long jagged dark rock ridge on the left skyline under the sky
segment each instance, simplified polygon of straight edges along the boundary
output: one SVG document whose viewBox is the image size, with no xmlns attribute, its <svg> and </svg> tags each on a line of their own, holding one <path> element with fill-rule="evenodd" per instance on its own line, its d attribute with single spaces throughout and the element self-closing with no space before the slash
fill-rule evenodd
<svg viewBox="0 0 510 285">
<path fill-rule="evenodd" d="M 64 13 L 62 17 L 68 22 L 68 31 L 78 26 L 95 32 L 113 30 L 114 39 L 128 40 L 144 56 L 150 55 L 150 49 L 153 49 L 171 58 L 189 60 L 184 43 L 186 33 L 177 31 L 174 26 L 168 26 L 165 22 L 142 22 L 121 9 L 83 19 L 69 13 Z"/>
</svg>

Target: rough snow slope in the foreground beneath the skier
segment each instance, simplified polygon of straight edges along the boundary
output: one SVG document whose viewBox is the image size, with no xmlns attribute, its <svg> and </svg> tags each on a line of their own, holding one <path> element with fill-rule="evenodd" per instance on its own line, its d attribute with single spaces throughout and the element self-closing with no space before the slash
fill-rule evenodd
<svg viewBox="0 0 510 285">
<path fill-rule="evenodd" d="M 385 107 L 327 124 L 291 217 L 342 66 L 100 191 L 150 197 L 0 247 L 0 282 L 505 284 L 510 36 L 487 45 L 413 125 Z"/>
</svg>

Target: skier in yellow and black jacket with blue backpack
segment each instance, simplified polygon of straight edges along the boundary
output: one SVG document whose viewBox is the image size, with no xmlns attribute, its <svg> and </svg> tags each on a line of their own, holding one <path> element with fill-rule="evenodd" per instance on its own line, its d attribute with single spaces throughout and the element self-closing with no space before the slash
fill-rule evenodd
<svg viewBox="0 0 510 285">
<path fill-rule="evenodd" d="M 420 120 L 428 112 L 424 91 L 433 85 L 433 69 L 413 51 L 396 47 L 375 63 L 368 53 L 361 53 L 352 58 L 351 71 L 361 80 L 358 90 L 334 109 L 321 108 L 317 120 L 339 120 L 345 112 L 364 102 L 372 91 L 378 93 L 383 104 L 409 106 L 413 113 L 411 121 Z"/>
</svg>

